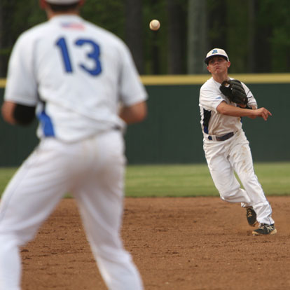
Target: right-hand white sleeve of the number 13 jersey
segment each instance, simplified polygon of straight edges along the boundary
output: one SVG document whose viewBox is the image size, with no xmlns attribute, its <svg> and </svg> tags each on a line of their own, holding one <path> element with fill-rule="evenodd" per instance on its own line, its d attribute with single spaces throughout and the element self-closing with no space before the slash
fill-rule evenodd
<svg viewBox="0 0 290 290">
<path fill-rule="evenodd" d="M 129 48 L 123 45 L 121 51 L 123 62 L 120 68 L 120 100 L 125 106 L 132 106 L 147 99 L 144 85 L 135 67 Z"/>
</svg>

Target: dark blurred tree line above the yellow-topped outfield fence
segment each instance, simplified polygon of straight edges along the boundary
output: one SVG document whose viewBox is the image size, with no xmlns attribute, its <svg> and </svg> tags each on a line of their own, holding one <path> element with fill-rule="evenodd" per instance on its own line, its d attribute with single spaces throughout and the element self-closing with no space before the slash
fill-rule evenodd
<svg viewBox="0 0 290 290">
<path fill-rule="evenodd" d="M 231 73 L 290 70 L 289 0 L 87 0 L 81 15 L 123 39 L 140 74 L 203 74 L 212 48 Z M 0 1 L 0 77 L 20 33 L 45 20 L 39 0 Z"/>
</svg>

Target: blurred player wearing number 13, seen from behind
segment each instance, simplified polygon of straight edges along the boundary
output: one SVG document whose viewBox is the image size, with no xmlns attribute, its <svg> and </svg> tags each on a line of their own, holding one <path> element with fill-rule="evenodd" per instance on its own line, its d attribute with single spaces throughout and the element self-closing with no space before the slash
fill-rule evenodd
<svg viewBox="0 0 290 290">
<path fill-rule="evenodd" d="M 143 289 L 119 232 L 125 171 L 122 130 L 125 123 L 145 118 L 146 90 L 127 46 L 83 20 L 78 15 L 81 4 L 41 1 L 48 22 L 20 36 L 9 62 L 4 119 L 25 125 L 36 111 L 41 141 L 1 200 L 1 290 L 21 289 L 19 247 L 32 240 L 67 192 L 78 202 L 106 286 Z"/>
</svg>

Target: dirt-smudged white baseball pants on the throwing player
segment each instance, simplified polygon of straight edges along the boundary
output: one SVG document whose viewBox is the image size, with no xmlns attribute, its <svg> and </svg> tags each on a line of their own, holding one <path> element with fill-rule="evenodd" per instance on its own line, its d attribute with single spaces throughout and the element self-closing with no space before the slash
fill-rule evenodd
<svg viewBox="0 0 290 290">
<path fill-rule="evenodd" d="M 205 158 L 222 200 L 252 206 L 259 223 L 274 223 L 270 203 L 254 172 L 249 141 L 241 130 L 226 141 L 204 141 Z M 235 178 L 235 172 L 244 189 Z"/>
</svg>

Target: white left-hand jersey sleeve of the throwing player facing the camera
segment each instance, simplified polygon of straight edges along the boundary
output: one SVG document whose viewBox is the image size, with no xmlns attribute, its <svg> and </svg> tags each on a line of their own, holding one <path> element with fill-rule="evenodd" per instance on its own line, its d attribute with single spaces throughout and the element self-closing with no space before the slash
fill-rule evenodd
<svg viewBox="0 0 290 290">
<path fill-rule="evenodd" d="M 221 96 L 221 92 L 207 85 L 202 85 L 200 88 L 200 105 L 207 111 L 217 112 L 216 108 L 225 101 Z"/>
</svg>

